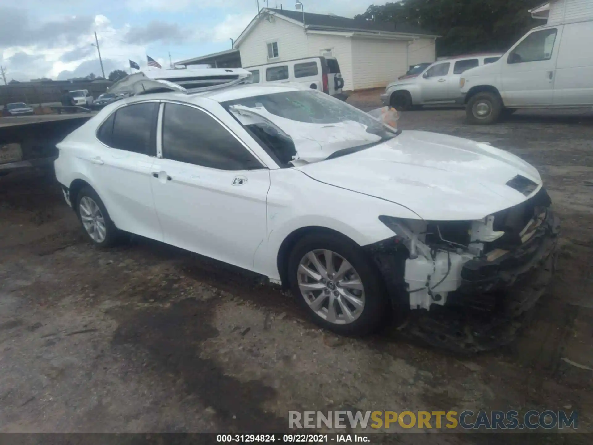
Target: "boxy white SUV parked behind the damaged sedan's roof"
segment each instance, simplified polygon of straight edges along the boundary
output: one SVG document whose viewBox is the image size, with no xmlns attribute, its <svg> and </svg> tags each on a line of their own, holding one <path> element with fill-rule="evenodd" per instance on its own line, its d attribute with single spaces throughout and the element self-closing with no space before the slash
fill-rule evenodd
<svg viewBox="0 0 593 445">
<path fill-rule="evenodd" d="M 306 84 L 314 90 L 321 90 L 336 98 L 346 100 L 342 93 L 344 80 L 340 65 L 334 57 L 309 57 L 292 61 L 247 66 L 251 71 L 248 82 L 252 84 L 270 82 L 296 82 Z"/>
</svg>

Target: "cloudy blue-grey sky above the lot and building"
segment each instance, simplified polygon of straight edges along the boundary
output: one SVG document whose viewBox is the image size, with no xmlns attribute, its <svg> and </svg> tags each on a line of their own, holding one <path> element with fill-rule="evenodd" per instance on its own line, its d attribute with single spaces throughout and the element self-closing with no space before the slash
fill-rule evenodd
<svg viewBox="0 0 593 445">
<path fill-rule="evenodd" d="M 269 0 L 270 8 L 294 9 L 294 0 Z M 305 12 L 353 17 L 373 0 L 304 0 Z M 11 6 L 7 6 L 11 4 Z M 6 6 L 5 6 L 6 5 Z M 266 7 L 259 0 L 260 8 Z M 7 80 L 67 79 L 146 66 L 146 54 L 162 66 L 231 48 L 257 13 L 256 0 L 18 0 L 0 2 L 0 66 Z"/>
</svg>

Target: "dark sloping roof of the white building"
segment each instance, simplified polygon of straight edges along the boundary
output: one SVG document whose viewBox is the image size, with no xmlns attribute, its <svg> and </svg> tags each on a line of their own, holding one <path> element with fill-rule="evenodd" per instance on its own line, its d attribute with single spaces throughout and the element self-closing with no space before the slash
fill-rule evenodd
<svg viewBox="0 0 593 445">
<path fill-rule="evenodd" d="M 288 9 L 274 9 L 269 8 L 269 11 L 284 17 L 291 18 L 300 23 L 303 23 L 302 11 L 289 11 Z M 394 23 L 383 21 L 362 20 L 356 18 L 340 17 L 333 14 L 313 14 L 312 12 L 305 12 L 305 25 L 307 29 L 327 29 L 332 28 L 334 31 L 383 31 L 388 33 L 401 34 L 419 34 L 426 36 L 434 36 L 435 33 L 427 31 L 419 26 L 409 23 Z"/>
</svg>

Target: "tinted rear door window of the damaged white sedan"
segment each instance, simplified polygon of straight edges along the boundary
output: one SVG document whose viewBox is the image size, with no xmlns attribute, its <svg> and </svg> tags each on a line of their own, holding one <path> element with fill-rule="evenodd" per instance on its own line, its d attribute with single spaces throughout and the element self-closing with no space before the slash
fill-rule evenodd
<svg viewBox="0 0 593 445">
<path fill-rule="evenodd" d="M 111 147 L 156 155 L 158 102 L 145 102 L 118 109 L 113 122 Z"/>
</svg>

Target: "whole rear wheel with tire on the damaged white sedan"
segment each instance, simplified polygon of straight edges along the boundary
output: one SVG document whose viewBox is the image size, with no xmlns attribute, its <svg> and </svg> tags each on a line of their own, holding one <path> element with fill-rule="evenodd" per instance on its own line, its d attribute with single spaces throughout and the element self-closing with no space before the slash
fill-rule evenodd
<svg viewBox="0 0 593 445">
<path fill-rule="evenodd" d="M 111 247 L 119 241 L 119 230 L 91 187 L 82 187 L 76 196 L 76 216 L 87 238 L 97 247 Z"/>
</svg>

